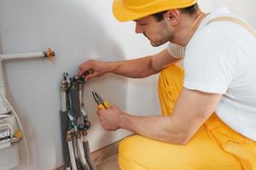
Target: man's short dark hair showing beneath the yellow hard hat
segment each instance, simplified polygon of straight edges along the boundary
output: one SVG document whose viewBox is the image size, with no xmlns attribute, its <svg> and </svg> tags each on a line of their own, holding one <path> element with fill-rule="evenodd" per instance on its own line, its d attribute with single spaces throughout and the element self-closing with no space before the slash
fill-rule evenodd
<svg viewBox="0 0 256 170">
<path fill-rule="evenodd" d="M 183 14 L 193 15 L 198 10 L 198 5 L 197 5 L 197 3 L 195 3 L 189 7 L 180 8 L 180 10 Z M 156 13 L 156 14 L 152 14 L 152 15 L 154 16 L 155 20 L 160 22 L 161 20 L 164 20 L 164 14 L 166 13 L 166 11 L 162 11 L 160 13 Z"/>
</svg>

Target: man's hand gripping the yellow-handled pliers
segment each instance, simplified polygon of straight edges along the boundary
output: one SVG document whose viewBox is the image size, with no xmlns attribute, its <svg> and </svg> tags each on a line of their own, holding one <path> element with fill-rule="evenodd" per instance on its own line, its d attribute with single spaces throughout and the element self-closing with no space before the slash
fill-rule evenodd
<svg viewBox="0 0 256 170">
<path fill-rule="evenodd" d="M 97 111 L 99 121 L 103 129 L 115 131 L 119 129 L 121 116 L 124 114 L 116 105 L 111 105 L 110 109 L 102 109 Z"/>
</svg>

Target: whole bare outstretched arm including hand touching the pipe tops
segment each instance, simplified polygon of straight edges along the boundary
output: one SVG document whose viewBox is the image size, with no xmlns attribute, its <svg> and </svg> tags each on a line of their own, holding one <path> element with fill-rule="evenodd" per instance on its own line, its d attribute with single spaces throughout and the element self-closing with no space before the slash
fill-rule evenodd
<svg viewBox="0 0 256 170">
<path fill-rule="evenodd" d="M 79 65 L 79 77 L 86 73 L 86 71 L 90 71 L 91 74 L 88 75 L 87 72 L 85 81 L 93 77 L 102 77 L 106 73 L 114 73 L 132 78 L 143 78 L 158 73 L 161 69 L 177 60 L 168 54 L 166 49 L 159 54 L 149 55 L 139 59 L 108 62 L 88 59 Z"/>
</svg>

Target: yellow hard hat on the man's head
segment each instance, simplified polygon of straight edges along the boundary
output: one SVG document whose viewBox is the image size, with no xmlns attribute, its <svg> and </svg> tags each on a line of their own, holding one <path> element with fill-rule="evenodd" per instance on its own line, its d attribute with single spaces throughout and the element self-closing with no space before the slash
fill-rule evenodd
<svg viewBox="0 0 256 170">
<path fill-rule="evenodd" d="M 113 0 L 113 15 L 119 21 L 137 20 L 161 11 L 186 8 L 196 0 Z"/>
</svg>

